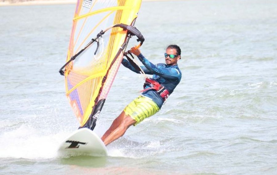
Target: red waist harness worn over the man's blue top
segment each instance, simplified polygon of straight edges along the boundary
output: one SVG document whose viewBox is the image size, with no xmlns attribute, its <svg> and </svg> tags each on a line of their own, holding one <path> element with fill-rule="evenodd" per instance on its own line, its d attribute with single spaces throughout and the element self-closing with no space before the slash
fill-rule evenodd
<svg viewBox="0 0 277 175">
<path fill-rule="evenodd" d="M 142 92 L 147 91 L 149 89 L 154 89 L 162 97 L 164 102 L 167 100 L 167 98 L 170 95 L 169 91 L 164 86 L 159 84 L 159 82 L 157 82 L 155 80 L 151 80 L 149 78 L 146 78 L 145 83 L 143 84 L 143 88 L 145 88 L 147 85 L 150 86 L 150 87 L 142 90 Z"/>
</svg>

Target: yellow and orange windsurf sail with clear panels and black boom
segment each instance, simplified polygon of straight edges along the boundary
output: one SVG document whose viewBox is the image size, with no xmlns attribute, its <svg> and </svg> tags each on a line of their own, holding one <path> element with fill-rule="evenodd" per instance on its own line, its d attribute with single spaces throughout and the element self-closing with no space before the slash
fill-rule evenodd
<svg viewBox="0 0 277 175">
<path fill-rule="evenodd" d="M 96 125 L 131 36 L 141 0 L 78 0 L 66 64 L 66 97 L 80 128 Z"/>
</svg>

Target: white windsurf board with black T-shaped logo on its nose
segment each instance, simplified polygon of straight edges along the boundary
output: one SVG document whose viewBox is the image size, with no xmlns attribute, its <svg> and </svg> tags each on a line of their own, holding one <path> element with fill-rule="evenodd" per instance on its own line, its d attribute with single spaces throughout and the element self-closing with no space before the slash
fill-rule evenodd
<svg viewBox="0 0 277 175">
<path fill-rule="evenodd" d="M 59 146 L 60 156 L 107 156 L 105 144 L 92 130 L 81 128 L 70 134 Z"/>
</svg>

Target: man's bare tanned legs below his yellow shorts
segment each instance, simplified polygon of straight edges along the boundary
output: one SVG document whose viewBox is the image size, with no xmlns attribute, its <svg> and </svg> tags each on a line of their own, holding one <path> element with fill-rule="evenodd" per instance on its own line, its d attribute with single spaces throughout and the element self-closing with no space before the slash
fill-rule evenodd
<svg viewBox="0 0 277 175">
<path fill-rule="evenodd" d="M 123 116 L 121 116 L 122 113 L 124 113 Z M 129 115 L 126 116 L 125 112 L 122 113 L 118 116 L 119 119 L 116 118 L 114 120 L 112 126 L 110 126 L 109 130 L 107 130 L 101 138 L 106 146 L 121 137 L 131 125 L 134 125 L 136 123 L 136 121 L 132 119 Z M 123 117 L 123 120 L 121 120 L 121 122 L 119 123 L 118 121 L 120 121 L 120 117 Z M 118 121 L 116 121 L 117 119 Z"/>
</svg>

